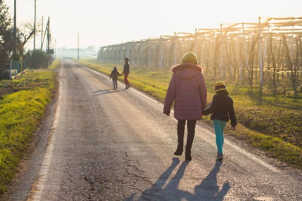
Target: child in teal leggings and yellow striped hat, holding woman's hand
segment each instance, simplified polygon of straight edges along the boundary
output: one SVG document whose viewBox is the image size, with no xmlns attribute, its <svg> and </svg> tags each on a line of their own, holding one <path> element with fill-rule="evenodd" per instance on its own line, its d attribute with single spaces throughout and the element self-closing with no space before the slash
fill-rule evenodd
<svg viewBox="0 0 302 201">
<path fill-rule="evenodd" d="M 234 112 L 233 99 L 229 96 L 223 81 L 215 82 L 216 94 L 213 96 L 211 106 L 203 111 L 203 115 L 212 114 L 210 119 L 213 120 L 213 126 L 216 136 L 217 160 L 223 159 L 223 131 L 226 122 L 231 119 L 232 129 L 235 130 L 237 121 Z"/>
</svg>

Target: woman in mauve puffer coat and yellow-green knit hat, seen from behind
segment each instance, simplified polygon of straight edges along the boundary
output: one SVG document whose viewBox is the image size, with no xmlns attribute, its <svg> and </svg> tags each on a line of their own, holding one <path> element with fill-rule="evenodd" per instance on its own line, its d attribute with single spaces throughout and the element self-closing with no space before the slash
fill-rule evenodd
<svg viewBox="0 0 302 201">
<path fill-rule="evenodd" d="M 164 105 L 164 114 L 170 116 L 174 102 L 174 117 L 178 120 L 178 146 L 174 155 L 182 155 L 187 120 L 186 160 L 192 160 L 191 148 L 195 135 L 196 121 L 201 120 L 202 111 L 206 107 L 205 80 L 202 68 L 197 65 L 197 62 L 196 55 L 193 52 L 188 52 L 181 59 L 181 64 L 172 67 L 173 75 Z"/>
</svg>

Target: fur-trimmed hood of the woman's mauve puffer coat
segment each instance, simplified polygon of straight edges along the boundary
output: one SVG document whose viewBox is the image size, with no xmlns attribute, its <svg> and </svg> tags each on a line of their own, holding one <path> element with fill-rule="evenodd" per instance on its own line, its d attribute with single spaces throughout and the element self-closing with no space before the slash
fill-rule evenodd
<svg viewBox="0 0 302 201">
<path fill-rule="evenodd" d="M 182 79 L 191 79 L 198 73 L 202 73 L 202 67 L 192 63 L 183 63 L 175 65 L 171 71 Z"/>
</svg>

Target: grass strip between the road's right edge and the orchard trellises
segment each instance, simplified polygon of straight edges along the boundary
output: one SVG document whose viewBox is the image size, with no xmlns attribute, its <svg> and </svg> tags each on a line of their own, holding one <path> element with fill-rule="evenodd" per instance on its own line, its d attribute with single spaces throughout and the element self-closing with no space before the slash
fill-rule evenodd
<svg viewBox="0 0 302 201">
<path fill-rule="evenodd" d="M 102 63 L 92 59 L 80 59 L 78 62 L 104 74 L 109 75 L 116 64 Z M 116 65 L 119 72 L 123 66 Z M 172 73 L 168 70 L 148 70 L 131 67 L 129 82 L 132 86 L 147 92 L 164 102 Z M 206 77 L 206 75 L 205 75 Z M 206 78 L 208 106 L 214 95 L 213 78 Z M 296 167 L 302 167 L 302 96 L 273 95 L 269 89 L 258 94 L 258 86 L 237 85 L 226 82 L 239 122 L 233 132 L 230 127 L 225 133 L 251 143 L 265 150 L 270 156 Z M 209 116 L 204 120 L 211 125 Z"/>
</svg>

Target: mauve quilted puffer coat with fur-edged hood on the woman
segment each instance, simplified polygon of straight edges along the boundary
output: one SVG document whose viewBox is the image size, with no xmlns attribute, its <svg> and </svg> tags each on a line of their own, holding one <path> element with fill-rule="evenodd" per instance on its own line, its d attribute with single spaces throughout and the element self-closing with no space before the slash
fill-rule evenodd
<svg viewBox="0 0 302 201">
<path fill-rule="evenodd" d="M 164 114 L 170 114 L 174 101 L 174 117 L 177 120 L 201 120 L 206 107 L 206 86 L 202 68 L 184 63 L 172 67 L 164 105 Z"/>
</svg>

